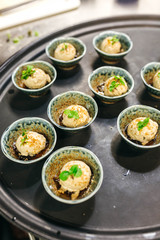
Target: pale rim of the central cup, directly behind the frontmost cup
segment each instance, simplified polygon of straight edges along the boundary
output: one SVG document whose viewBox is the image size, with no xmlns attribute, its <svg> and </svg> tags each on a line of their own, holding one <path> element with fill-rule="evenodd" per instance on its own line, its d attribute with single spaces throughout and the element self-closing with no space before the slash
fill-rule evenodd
<svg viewBox="0 0 160 240">
<path fill-rule="evenodd" d="M 57 98 L 60 98 L 62 96 L 65 96 L 66 94 L 69 94 L 69 93 L 78 93 L 79 95 L 83 95 L 85 97 L 88 97 L 92 102 L 93 102 L 93 105 L 95 107 L 95 114 L 94 114 L 94 117 L 91 119 L 91 121 L 89 123 L 87 123 L 86 125 L 83 125 L 83 126 L 80 126 L 80 127 L 76 127 L 76 128 L 69 128 L 69 127 L 65 127 L 65 126 L 61 126 L 59 125 L 58 123 L 56 123 L 54 121 L 54 119 L 52 118 L 51 116 L 51 106 L 53 104 L 53 102 L 57 99 Z M 62 130 L 66 130 L 66 131 L 77 131 L 77 130 L 80 130 L 80 129 L 84 129 L 86 127 L 88 127 L 94 120 L 95 118 L 97 117 L 97 114 L 98 114 L 98 105 L 96 103 L 96 101 L 91 97 L 89 96 L 88 94 L 85 94 L 85 93 L 82 93 L 80 91 L 67 91 L 67 92 L 63 92 L 63 93 L 60 93 L 58 95 L 56 95 L 54 98 L 51 99 L 51 101 L 49 102 L 48 104 L 48 107 L 47 107 L 47 115 L 48 115 L 48 118 L 50 119 L 50 121 L 55 125 L 57 126 L 58 128 L 62 129 Z"/>
</svg>

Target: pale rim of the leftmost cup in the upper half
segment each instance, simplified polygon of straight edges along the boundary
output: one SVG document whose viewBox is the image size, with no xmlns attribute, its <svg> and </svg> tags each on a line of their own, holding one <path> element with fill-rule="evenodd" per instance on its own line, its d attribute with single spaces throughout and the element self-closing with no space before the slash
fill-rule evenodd
<svg viewBox="0 0 160 240">
<path fill-rule="evenodd" d="M 37 89 L 31 89 L 31 88 L 29 88 L 29 89 L 27 89 L 27 88 L 19 87 L 19 86 L 16 84 L 15 80 L 14 80 L 17 71 L 19 70 L 20 67 L 23 67 L 23 66 L 26 66 L 26 65 L 29 65 L 29 64 L 34 64 L 34 63 L 43 63 L 43 64 L 47 65 L 48 67 L 52 68 L 52 70 L 53 70 L 53 72 L 54 72 L 54 78 L 51 80 L 50 83 L 48 83 L 47 85 L 45 85 L 45 86 L 42 87 L 42 88 L 37 88 Z M 57 78 L 57 71 L 56 71 L 55 67 L 53 67 L 50 63 L 48 63 L 48 62 L 46 62 L 46 61 L 40 61 L 40 60 L 38 60 L 38 61 L 29 61 L 29 62 L 22 63 L 22 64 L 18 65 L 18 66 L 16 67 L 16 69 L 15 69 L 15 70 L 13 71 L 13 73 L 12 73 L 12 83 L 14 84 L 14 86 L 15 86 L 17 89 L 19 89 L 19 90 L 21 90 L 21 91 L 23 91 L 23 92 L 29 92 L 29 93 L 36 93 L 36 92 L 43 91 L 43 90 L 47 89 L 48 87 L 50 87 L 50 86 L 54 83 L 54 81 L 56 80 L 56 78 Z"/>
</svg>

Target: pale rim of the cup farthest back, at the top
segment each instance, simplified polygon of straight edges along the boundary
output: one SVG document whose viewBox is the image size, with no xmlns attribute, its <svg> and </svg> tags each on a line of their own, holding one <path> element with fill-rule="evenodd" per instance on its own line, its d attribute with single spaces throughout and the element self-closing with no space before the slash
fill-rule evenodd
<svg viewBox="0 0 160 240">
<path fill-rule="evenodd" d="M 114 34 L 114 35 L 121 35 L 121 36 L 124 36 L 128 42 L 130 42 L 130 47 L 128 48 L 128 50 L 122 52 L 122 53 L 115 53 L 115 54 L 110 54 L 110 53 L 106 53 L 104 51 L 102 51 L 101 49 L 99 49 L 97 46 L 96 46 L 96 40 L 99 39 L 100 36 L 103 36 L 105 34 Z M 99 33 L 98 35 L 96 35 L 94 38 L 93 38 L 93 41 L 92 41 L 92 44 L 94 46 L 94 48 L 96 49 L 96 51 L 98 51 L 99 53 L 101 53 L 102 55 L 105 55 L 105 56 L 111 56 L 111 57 L 118 57 L 118 56 L 124 56 L 126 55 L 127 53 L 129 53 L 133 47 L 133 42 L 131 40 L 131 38 L 129 37 L 129 35 L 127 35 L 126 33 L 121 33 L 121 32 L 116 32 L 116 31 L 103 31 L 101 33 Z"/>
</svg>

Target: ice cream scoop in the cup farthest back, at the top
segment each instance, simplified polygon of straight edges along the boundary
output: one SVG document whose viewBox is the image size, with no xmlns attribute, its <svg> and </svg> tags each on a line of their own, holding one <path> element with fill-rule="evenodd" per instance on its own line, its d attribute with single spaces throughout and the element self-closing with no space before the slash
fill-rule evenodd
<svg viewBox="0 0 160 240">
<path fill-rule="evenodd" d="M 121 43 L 119 41 L 113 42 L 113 37 L 105 38 L 101 43 L 101 50 L 105 53 L 116 54 L 121 51 Z"/>
</svg>

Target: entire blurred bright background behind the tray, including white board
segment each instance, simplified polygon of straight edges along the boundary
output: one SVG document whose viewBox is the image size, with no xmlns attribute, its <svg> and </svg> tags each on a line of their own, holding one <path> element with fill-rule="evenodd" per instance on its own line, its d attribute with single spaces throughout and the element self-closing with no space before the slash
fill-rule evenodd
<svg viewBox="0 0 160 240">
<path fill-rule="evenodd" d="M 19 7 L 18 7 L 19 6 Z M 159 0 L 1 0 L 0 65 L 50 33 L 105 17 L 160 14 Z"/>
</svg>

